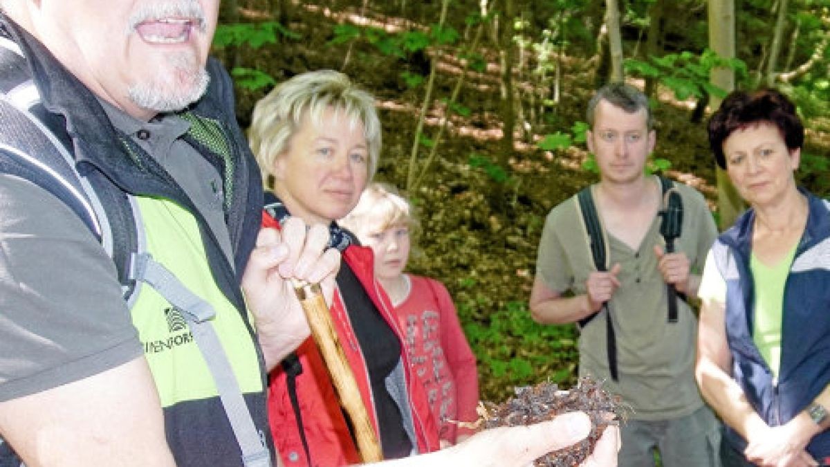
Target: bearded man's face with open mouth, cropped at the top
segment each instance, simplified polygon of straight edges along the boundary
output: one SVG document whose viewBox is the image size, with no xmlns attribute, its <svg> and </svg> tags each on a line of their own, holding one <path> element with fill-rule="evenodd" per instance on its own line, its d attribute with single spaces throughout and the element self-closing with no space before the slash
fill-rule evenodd
<svg viewBox="0 0 830 467">
<path fill-rule="evenodd" d="M 139 119 L 188 106 L 219 0 L 42 0 L 35 35 L 95 94 Z"/>
</svg>

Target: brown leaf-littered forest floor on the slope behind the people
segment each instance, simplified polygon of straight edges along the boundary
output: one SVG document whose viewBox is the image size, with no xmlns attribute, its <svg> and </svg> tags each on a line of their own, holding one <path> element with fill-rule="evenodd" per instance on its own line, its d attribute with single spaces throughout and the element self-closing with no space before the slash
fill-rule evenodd
<svg viewBox="0 0 830 467">
<path fill-rule="evenodd" d="M 277 81 L 320 68 L 349 74 L 378 98 L 383 151 L 375 179 L 405 187 L 424 87 L 408 88 L 399 73 L 406 67 L 428 71 L 428 64 L 396 61 L 360 45 L 351 52 L 348 44 L 332 46 L 329 42 L 334 25 L 345 13 L 355 21 L 359 7 L 337 13 L 306 5 L 288 24 L 302 39 L 263 47 L 250 57 L 243 55 L 244 66 L 266 71 Z M 393 23 L 391 18 L 383 21 Z M 308 27 L 312 24 L 313 31 Z M 349 61 L 344 67 L 347 55 Z M 584 60 L 564 63 L 562 96 L 551 111 L 561 130 L 567 131 L 574 122 L 585 120 L 584 109 L 594 79 L 593 71 L 586 71 Z M 442 61 L 442 65 L 436 99 L 450 95 L 457 77 L 452 72 L 452 61 Z M 521 135 L 517 135 L 515 151 L 510 155 L 510 167 L 503 168 L 508 181 L 496 181 L 486 168 L 476 166 L 481 164 L 471 164 L 471 157 L 494 163 L 498 160 L 500 119 L 492 106 L 484 103 L 492 102 L 500 92 L 499 82 L 495 60 L 486 73 L 468 79 L 458 101 L 471 109 L 470 116 L 452 117 L 439 143 L 439 156 L 420 187 L 409 194 L 417 204 L 422 224 L 417 238 L 420 254 L 413 256 L 410 270 L 447 285 L 479 358 L 482 397 L 493 401 L 510 395 L 511 385 L 550 379 L 568 386 L 575 381 L 574 327 L 544 329 L 536 325 L 530 321 L 526 302 L 545 215 L 597 179 L 593 172 L 583 169 L 588 156 L 583 145 L 550 152 L 522 141 Z M 517 86 L 528 84 L 519 82 Z M 674 101 L 666 90 L 658 94 L 654 157 L 671 161 L 665 175 L 701 190 L 714 208 L 714 163 L 706 143 L 705 123 L 690 122 L 691 102 Z M 259 97 L 261 92 L 240 92 L 237 109 L 243 124 Z M 442 106 L 432 106 L 427 134 L 437 132 L 441 111 Z M 543 136 L 534 135 L 537 140 Z M 814 151 L 827 154 L 828 146 Z M 421 160 L 427 152 L 422 146 Z"/>
</svg>

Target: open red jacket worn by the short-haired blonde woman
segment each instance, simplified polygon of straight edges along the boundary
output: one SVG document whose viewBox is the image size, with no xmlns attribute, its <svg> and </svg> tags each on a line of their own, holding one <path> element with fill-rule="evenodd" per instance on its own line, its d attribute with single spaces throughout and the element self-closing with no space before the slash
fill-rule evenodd
<svg viewBox="0 0 830 467">
<path fill-rule="evenodd" d="M 279 229 L 279 224 L 268 214 L 263 214 L 263 227 Z M 401 340 L 403 334 L 393 314 L 393 307 L 386 293 L 374 280 L 373 256 L 369 248 L 351 245 L 343 253 L 343 260 L 349 264 L 364 289 L 371 297 L 374 305 L 383 315 L 383 318 L 392 327 L 393 332 Z M 361 353 L 357 337 L 349 322 L 349 316 L 343 306 L 339 290 L 334 293 L 334 305 L 331 307 L 334 318 L 334 328 L 343 343 L 344 352 L 354 371 L 360 395 L 364 404 L 369 408 L 369 417 L 372 419 L 375 432 L 378 431 L 378 420 L 374 410 L 374 398 L 369 383 L 369 371 Z M 303 371 L 296 377 L 296 393 L 300 406 L 300 414 L 305 431 L 305 440 L 309 445 L 309 452 L 313 465 L 320 467 L 334 467 L 338 465 L 357 464 L 360 461 L 354 441 L 349 434 L 343 411 L 340 408 L 337 395 L 334 391 L 330 376 L 325 369 L 322 356 L 317 351 L 314 341 L 309 338 L 296 350 L 300 358 Z M 412 366 L 406 352 L 401 355 L 408 395 L 409 414 L 404 413 L 403 419 L 412 420 L 413 431 L 417 443 L 417 452 L 425 453 L 439 449 L 438 430 L 435 420 L 432 419 L 427 396 L 420 381 L 414 376 Z M 276 366 L 271 371 L 268 386 L 268 416 L 271 432 L 274 436 L 274 445 L 280 453 L 286 466 L 310 465 L 306 459 L 300 438 L 300 429 L 294 415 L 289 396 L 286 372 L 282 366 Z"/>
</svg>

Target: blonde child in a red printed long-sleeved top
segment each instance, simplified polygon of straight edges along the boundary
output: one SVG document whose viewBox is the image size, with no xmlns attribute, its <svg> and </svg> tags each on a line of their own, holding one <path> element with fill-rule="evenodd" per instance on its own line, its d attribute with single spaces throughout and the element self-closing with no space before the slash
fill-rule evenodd
<svg viewBox="0 0 830 467">
<path fill-rule="evenodd" d="M 466 341 L 447 288 L 435 279 L 403 273 L 417 219 L 389 184 L 369 184 L 339 224 L 374 251 L 374 274 L 395 307 L 409 361 L 427 390 L 442 445 L 471 435 L 456 421 L 476 420 L 476 357 Z"/>
</svg>

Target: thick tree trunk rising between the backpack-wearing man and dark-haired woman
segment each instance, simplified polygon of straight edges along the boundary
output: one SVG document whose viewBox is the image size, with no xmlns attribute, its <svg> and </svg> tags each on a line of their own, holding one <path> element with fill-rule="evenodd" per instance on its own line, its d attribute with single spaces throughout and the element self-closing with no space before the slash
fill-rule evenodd
<svg viewBox="0 0 830 467">
<path fill-rule="evenodd" d="M 709 0 L 709 46 L 720 57 L 735 57 L 734 0 Z M 725 67 L 714 68 L 711 71 L 711 81 L 715 86 L 732 91 L 735 89 L 735 71 Z M 712 108 L 717 108 L 720 99 L 712 96 L 711 105 Z M 724 230 L 734 224 L 738 214 L 744 210 L 744 201 L 720 167 L 716 168 L 716 178 L 720 229 Z"/>
</svg>

